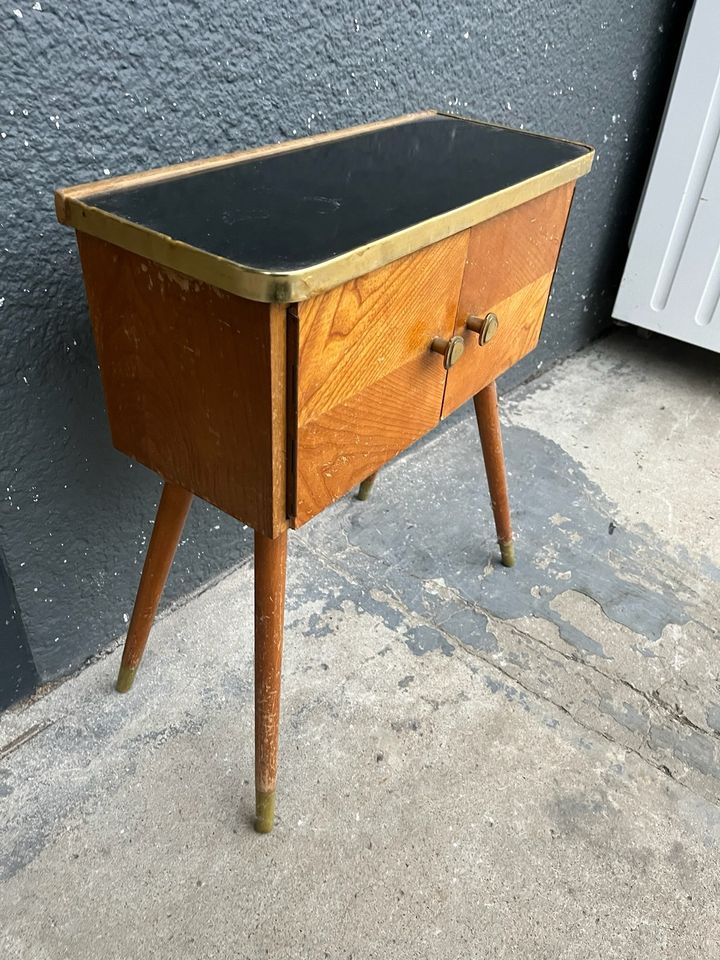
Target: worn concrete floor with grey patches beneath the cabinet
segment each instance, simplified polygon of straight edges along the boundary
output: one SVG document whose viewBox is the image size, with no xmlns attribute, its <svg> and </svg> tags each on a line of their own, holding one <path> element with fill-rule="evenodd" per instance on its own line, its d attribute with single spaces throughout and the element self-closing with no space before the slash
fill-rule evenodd
<svg viewBox="0 0 720 960">
<path fill-rule="evenodd" d="M 0 956 L 720 957 L 717 357 L 503 407 L 514 570 L 471 410 L 292 536 L 271 836 L 248 566 L 2 717 Z"/>
</svg>

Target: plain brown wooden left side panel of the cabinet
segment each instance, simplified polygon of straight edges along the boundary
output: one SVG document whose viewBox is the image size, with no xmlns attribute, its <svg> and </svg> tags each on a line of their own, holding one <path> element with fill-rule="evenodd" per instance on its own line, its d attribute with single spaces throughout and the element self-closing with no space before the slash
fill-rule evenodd
<svg viewBox="0 0 720 960">
<path fill-rule="evenodd" d="M 114 445 L 265 536 L 285 510 L 285 308 L 79 233 Z"/>
</svg>

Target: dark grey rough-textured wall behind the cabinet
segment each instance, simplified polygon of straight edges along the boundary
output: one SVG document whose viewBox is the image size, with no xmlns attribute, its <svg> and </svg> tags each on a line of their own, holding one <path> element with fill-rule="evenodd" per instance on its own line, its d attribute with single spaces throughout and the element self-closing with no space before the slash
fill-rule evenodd
<svg viewBox="0 0 720 960">
<path fill-rule="evenodd" d="M 0 11 L 0 546 L 47 679 L 123 632 L 158 496 L 111 448 L 53 189 L 425 106 L 592 143 L 518 381 L 609 322 L 686 5 L 15 2 Z M 166 599 L 249 547 L 196 502 Z"/>
</svg>

